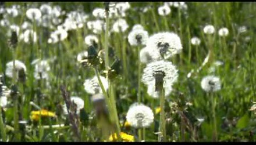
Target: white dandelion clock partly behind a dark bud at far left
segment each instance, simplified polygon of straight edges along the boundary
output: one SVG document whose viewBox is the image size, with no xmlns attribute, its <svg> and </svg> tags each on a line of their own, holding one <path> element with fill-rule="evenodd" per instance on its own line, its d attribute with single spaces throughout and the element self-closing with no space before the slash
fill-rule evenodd
<svg viewBox="0 0 256 145">
<path fill-rule="evenodd" d="M 18 75 L 19 71 L 21 70 L 24 70 L 24 72 L 26 72 L 27 70 L 25 64 L 22 61 L 15 60 L 15 68 L 13 67 L 13 61 L 9 61 L 8 63 L 6 63 L 6 70 L 5 70 L 5 74 L 7 77 L 9 78 L 13 77 L 13 69 L 16 71 L 16 75 Z"/>
</svg>

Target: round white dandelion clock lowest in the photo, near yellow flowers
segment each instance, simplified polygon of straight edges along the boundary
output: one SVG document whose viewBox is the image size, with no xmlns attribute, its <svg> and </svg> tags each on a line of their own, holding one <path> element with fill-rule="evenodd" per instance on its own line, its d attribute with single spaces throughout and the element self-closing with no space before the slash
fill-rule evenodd
<svg viewBox="0 0 256 145">
<path fill-rule="evenodd" d="M 126 119 L 134 128 L 147 128 L 154 121 L 154 113 L 150 107 L 134 103 L 130 106 Z"/>
</svg>

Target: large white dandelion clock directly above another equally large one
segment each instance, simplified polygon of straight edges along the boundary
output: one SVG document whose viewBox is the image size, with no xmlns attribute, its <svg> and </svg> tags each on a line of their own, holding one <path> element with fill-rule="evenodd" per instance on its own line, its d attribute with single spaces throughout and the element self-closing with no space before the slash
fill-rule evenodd
<svg viewBox="0 0 256 145">
<path fill-rule="evenodd" d="M 147 47 L 152 49 L 156 57 L 168 59 L 182 50 L 180 37 L 173 32 L 159 32 L 148 38 Z M 158 58 L 155 58 L 158 59 Z"/>
</svg>

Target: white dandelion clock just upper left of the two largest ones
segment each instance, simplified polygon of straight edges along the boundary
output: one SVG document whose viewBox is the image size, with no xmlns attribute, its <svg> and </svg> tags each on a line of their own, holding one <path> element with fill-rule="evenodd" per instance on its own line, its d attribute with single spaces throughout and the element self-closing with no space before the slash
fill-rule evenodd
<svg viewBox="0 0 256 145">
<path fill-rule="evenodd" d="M 148 32 L 143 29 L 131 30 L 128 35 L 128 42 L 132 46 L 145 45 L 148 40 Z"/>
</svg>

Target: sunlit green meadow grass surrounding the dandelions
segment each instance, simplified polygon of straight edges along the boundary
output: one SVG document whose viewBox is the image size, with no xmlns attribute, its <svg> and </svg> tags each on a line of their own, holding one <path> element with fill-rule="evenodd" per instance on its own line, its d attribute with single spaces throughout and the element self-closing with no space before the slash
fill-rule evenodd
<svg viewBox="0 0 256 145">
<path fill-rule="evenodd" d="M 21 6 L 22 13 L 19 16 L 8 20 L 10 23 L 21 26 L 23 21 L 29 21 L 26 17 L 25 7 L 30 2 L 5 2 L 6 8 L 18 4 Z M 255 114 L 248 111 L 253 105 L 252 101 L 256 101 L 256 57 L 255 57 L 255 31 L 256 31 L 256 4 L 253 2 L 186 2 L 187 11 L 171 7 L 171 14 L 168 16 L 159 16 L 157 9 L 162 2 L 130 2 L 130 9 L 126 11 L 126 19 L 129 24 L 128 30 L 121 33 L 112 32 L 108 38 L 109 46 L 111 46 L 117 56 L 122 61 L 123 71 L 115 81 L 111 82 L 112 89 L 109 92 L 111 103 L 116 102 L 116 111 L 119 120 L 126 117 L 130 104 L 137 102 L 138 88 L 138 52 L 137 46 L 130 46 L 127 36 L 134 24 L 141 24 L 148 31 L 149 35 L 157 32 L 172 31 L 182 39 L 182 53 L 174 56 L 173 64 L 179 70 L 179 80 L 173 85 L 173 92 L 168 97 L 166 104 L 171 102 L 177 103 L 177 108 L 183 111 L 193 128 L 197 128 L 196 136 L 193 139 L 193 133 L 185 123 L 184 135 L 181 135 L 182 122 L 180 114 L 173 111 L 165 111 L 166 119 L 171 118 L 172 121 L 166 122 L 166 136 L 168 142 L 211 142 L 212 141 L 212 108 L 211 98 L 204 90 L 201 89 L 201 79 L 209 75 L 208 68 L 213 62 L 220 60 L 222 66 L 216 67 L 214 74 L 221 78 L 222 89 L 216 92 L 215 114 L 216 127 L 218 132 L 218 141 L 223 142 L 239 142 L 239 141 L 256 141 Z M 39 8 L 41 2 L 34 4 Z M 92 16 L 94 8 L 104 8 L 101 2 L 52 2 L 51 5 L 59 5 L 66 13 L 82 9 L 89 15 L 89 20 L 95 20 Z M 138 8 L 152 6 L 148 12 L 141 12 Z M 3 14 L 0 14 L 0 20 Z M 61 16 L 65 19 L 65 16 Z M 115 19 L 109 19 L 109 28 L 112 28 Z M 204 34 L 203 28 L 207 24 L 215 27 L 215 34 L 212 35 L 212 41 L 209 42 L 207 35 Z M 239 34 L 238 28 L 246 26 L 247 31 Z M 225 38 L 219 37 L 218 30 L 226 27 L 229 35 Z M 9 37 L 6 35 L 10 29 L 0 26 L 0 74 L 4 74 L 6 63 L 13 60 L 12 50 L 8 47 Z M 88 30 L 86 24 L 83 28 L 68 31 L 68 37 L 56 44 L 48 44 L 48 37 L 45 33 L 52 32 L 50 28 L 35 26 L 37 31 L 37 42 L 26 44 L 19 41 L 17 44 L 16 59 L 26 64 L 26 82 L 24 84 L 17 83 L 19 97 L 24 98 L 21 110 L 14 110 L 15 104 L 12 98 L 9 98 L 8 106 L 5 110 L 0 110 L 3 121 L 0 118 L 0 139 L 8 142 L 26 141 L 26 142 L 97 142 L 101 139 L 101 131 L 97 127 L 97 118 L 91 95 L 84 90 L 84 79 L 91 78 L 95 75 L 93 68 L 83 67 L 77 63 L 76 56 L 83 50 L 87 50 L 88 46 L 84 44 L 84 37 L 93 34 Z M 20 32 L 21 33 L 21 32 Z M 99 39 L 98 51 L 105 48 L 105 33 L 96 34 Z M 201 39 L 201 44 L 191 45 L 192 37 Z M 250 37 L 250 40 L 246 38 Z M 199 73 L 193 73 L 190 78 L 187 74 L 194 69 L 195 71 L 201 66 L 202 61 L 208 54 L 209 48 L 214 53 L 213 60 L 207 66 L 203 67 Z M 141 49 L 141 47 L 139 48 Z M 196 55 L 198 50 L 198 57 Z M 33 77 L 34 66 L 31 62 L 34 59 L 52 59 L 50 63 L 51 71 L 49 71 L 49 84 L 45 80 L 38 81 Z M 115 61 L 114 57 L 109 57 L 109 66 Z M 141 64 L 141 73 L 145 64 Z M 99 73 L 105 75 L 104 64 L 98 66 Z M 125 71 L 126 70 L 126 71 Z M 10 88 L 12 79 L 5 77 L 5 85 Z M 72 127 L 69 126 L 69 118 L 62 114 L 61 106 L 65 104 L 62 97 L 60 87 L 66 86 L 71 96 L 79 96 L 84 100 L 84 114 L 79 116 L 79 132 L 80 140 L 77 140 L 73 134 Z M 110 88 L 110 86 L 109 86 Z M 154 111 L 159 106 L 159 99 L 152 99 L 147 94 L 147 86 L 141 83 L 141 100 Z M 115 91 L 115 92 L 113 92 Z M 32 122 L 30 120 L 30 112 L 36 110 L 29 103 L 33 101 L 41 108 L 57 114 L 56 118 L 40 119 L 40 122 Z M 186 103 L 192 103 L 192 106 L 186 106 Z M 166 105 L 166 106 L 168 106 Z M 186 111 L 184 108 L 187 108 Z M 19 135 L 15 135 L 14 112 L 21 112 L 22 119 L 28 121 L 25 129 L 26 136 L 22 137 L 19 129 Z M 111 119 L 116 117 L 115 108 L 110 111 Z M 172 112 L 172 113 L 170 113 Z M 145 129 L 145 142 L 157 142 L 158 136 L 154 132 L 158 132 L 159 114 L 155 114 L 154 124 L 150 128 Z M 200 124 L 197 118 L 204 117 L 205 120 Z M 182 118 L 183 119 L 183 118 Z M 116 118 L 114 119 L 116 121 Z M 4 123 L 3 123 L 4 122 Z M 40 125 L 41 124 L 41 125 Z M 65 127 L 52 128 L 51 125 L 65 124 Z M 232 125 L 233 124 L 233 125 Z M 42 128 L 42 125 L 50 125 L 49 128 Z M 134 128 L 122 128 L 122 132 L 134 135 L 138 138 L 137 130 Z M 17 137 L 19 140 L 17 140 Z M 23 139 L 24 138 L 24 139 Z"/>
</svg>

